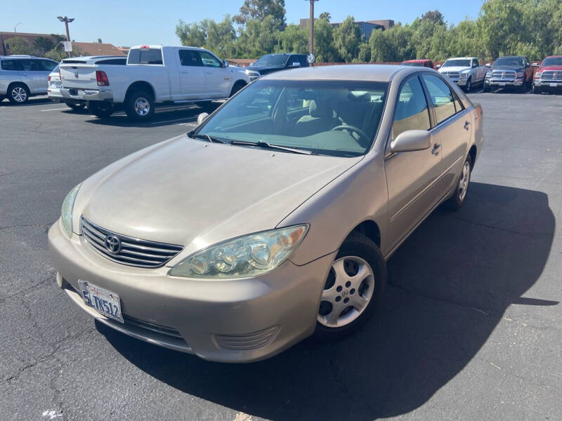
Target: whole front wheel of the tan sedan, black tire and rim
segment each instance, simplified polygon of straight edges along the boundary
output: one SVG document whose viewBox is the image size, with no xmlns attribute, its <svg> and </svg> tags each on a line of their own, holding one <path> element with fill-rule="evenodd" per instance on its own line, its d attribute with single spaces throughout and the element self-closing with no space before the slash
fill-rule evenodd
<svg viewBox="0 0 562 421">
<path fill-rule="evenodd" d="M 349 234 L 322 290 L 315 338 L 335 340 L 360 328 L 379 307 L 386 275 L 377 244 L 359 232 Z"/>
</svg>

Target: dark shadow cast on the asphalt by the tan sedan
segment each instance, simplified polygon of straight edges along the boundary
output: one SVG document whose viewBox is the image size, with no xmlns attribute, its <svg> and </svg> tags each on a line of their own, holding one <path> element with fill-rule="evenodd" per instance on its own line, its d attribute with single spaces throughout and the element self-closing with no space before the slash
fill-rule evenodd
<svg viewBox="0 0 562 421">
<path fill-rule="evenodd" d="M 210 363 L 97 323 L 126 359 L 181 392 L 273 420 L 372 420 L 428 401 L 478 353 L 539 278 L 555 220 L 547 195 L 473 182 L 457 213 L 438 209 L 389 260 L 379 312 L 343 340 L 308 339 L 272 359 Z M 197 323 L 197 321 L 193 321 Z"/>
</svg>

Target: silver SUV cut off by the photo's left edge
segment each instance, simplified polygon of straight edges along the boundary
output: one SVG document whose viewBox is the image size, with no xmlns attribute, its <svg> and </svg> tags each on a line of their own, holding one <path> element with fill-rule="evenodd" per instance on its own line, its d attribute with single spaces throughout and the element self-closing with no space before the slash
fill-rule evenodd
<svg viewBox="0 0 562 421">
<path fill-rule="evenodd" d="M 8 98 L 25 104 L 32 96 L 47 93 L 47 76 L 58 65 L 32 55 L 0 55 L 0 101 Z"/>
</svg>

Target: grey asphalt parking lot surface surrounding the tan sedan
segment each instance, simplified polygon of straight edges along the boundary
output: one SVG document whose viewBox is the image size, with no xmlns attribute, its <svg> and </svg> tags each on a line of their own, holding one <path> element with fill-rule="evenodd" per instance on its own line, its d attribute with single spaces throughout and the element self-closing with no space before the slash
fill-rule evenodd
<svg viewBox="0 0 562 421">
<path fill-rule="evenodd" d="M 556 420 L 562 418 L 562 95 L 473 93 L 485 147 L 466 206 L 436 210 L 389 262 L 377 318 L 226 365 L 139 342 L 55 285 L 46 232 L 67 192 L 185 133 L 32 98 L 0 103 L 3 420 Z"/>
</svg>

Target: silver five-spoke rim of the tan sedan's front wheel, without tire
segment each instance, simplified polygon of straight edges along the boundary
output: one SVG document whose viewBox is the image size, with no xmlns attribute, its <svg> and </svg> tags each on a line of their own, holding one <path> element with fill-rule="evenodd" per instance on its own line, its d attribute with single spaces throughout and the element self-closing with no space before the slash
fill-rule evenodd
<svg viewBox="0 0 562 421">
<path fill-rule="evenodd" d="M 318 323 L 341 328 L 357 319 L 374 292 L 374 273 L 365 260 L 346 256 L 334 260 L 322 291 Z"/>
</svg>

